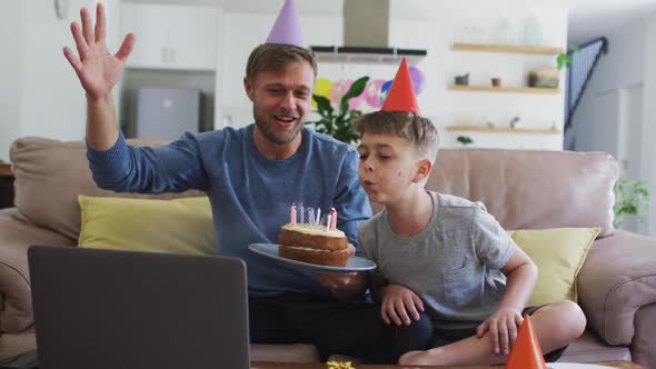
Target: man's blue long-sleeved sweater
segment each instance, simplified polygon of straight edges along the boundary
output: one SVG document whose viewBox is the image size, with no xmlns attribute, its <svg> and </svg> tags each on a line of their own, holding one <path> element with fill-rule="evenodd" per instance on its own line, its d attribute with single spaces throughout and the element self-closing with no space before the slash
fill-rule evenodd
<svg viewBox="0 0 656 369">
<path fill-rule="evenodd" d="M 354 147 L 304 128 L 298 151 L 286 160 L 267 160 L 252 141 L 254 124 L 200 134 L 185 133 L 161 148 L 131 147 L 122 134 L 106 151 L 88 148 L 99 187 L 118 192 L 207 192 L 217 249 L 248 266 L 249 293 L 329 295 L 314 275 L 275 263 L 248 250 L 254 242 L 277 243 L 289 207 L 337 209 L 337 228 L 356 245 L 360 221 L 371 216 L 358 181 Z M 359 252 L 358 252 L 359 253 Z"/>
</svg>

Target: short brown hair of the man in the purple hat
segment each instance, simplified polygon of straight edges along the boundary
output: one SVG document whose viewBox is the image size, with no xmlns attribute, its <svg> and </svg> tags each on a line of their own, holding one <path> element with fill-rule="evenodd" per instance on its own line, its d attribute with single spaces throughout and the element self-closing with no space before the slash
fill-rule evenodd
<svg viewBox="0 0 656 369">
<path fill-rule="evenodd" d="M 310 50 L 281 43 L 262 43 L 255 48 L 246 63 L 246 77 L 251 81 L 261 71 L 284 71 L 289 63 L 307 61 L 317 77 L 317 59 Z"/>
</svg>

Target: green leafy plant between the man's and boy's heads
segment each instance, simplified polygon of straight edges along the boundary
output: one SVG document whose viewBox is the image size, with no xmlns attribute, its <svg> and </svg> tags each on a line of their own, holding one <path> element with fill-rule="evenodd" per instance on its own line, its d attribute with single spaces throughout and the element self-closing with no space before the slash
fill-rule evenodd
<svg viewBox="0 0 656 369">
<path fill-rule="evenodd" d="M 315 130 L 319 133 L 328 134 L 346 143 L 355 143 L 359 136 L 352 129 L 351 120 L 362 114 L 361 111 L 349 109 L 349 100 L 362 93 L 367 86 L 369 77 L 365 76 L 357 79 L 348 91 L 339 100 L 339 106 L 334 108 L 326 97 L 312 94 L 317 102 L 317 112 L 319 120 L 308 121 L 306 124 L 314 124 Z"/>
</svg>

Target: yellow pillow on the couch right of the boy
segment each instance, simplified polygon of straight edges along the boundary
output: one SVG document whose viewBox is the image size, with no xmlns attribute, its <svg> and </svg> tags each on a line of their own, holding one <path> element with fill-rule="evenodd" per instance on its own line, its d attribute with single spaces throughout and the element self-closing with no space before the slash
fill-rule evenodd
<svg viewBox="0 0 656 369">
<path fill-rule="evenodd" d="M 515 243 L 538 268 L 537 282 L 527 306 L 578 301 L 576 277 L 599 228 L 553 228 L 508 231 Z"/>
</svg>

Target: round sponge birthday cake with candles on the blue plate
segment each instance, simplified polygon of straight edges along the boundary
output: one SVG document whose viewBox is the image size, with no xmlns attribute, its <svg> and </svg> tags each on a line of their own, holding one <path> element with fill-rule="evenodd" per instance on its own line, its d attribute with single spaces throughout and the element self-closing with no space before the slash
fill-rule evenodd
<svg viewBox="0 0 656 369">
<path fill-rule="evenodd" d="M 278 232 L 278 255 L 321 266 L 346 266 L 348 238 L 335 227 L 337 212 L 331 211 L 328 221 L 330 226 L 324 226 L 314 219 L 308 223 L 297 222 L 295 212 L 292 210 L 292 221 L 282 226 Z"/>
</svg>

